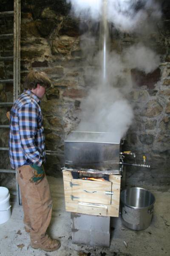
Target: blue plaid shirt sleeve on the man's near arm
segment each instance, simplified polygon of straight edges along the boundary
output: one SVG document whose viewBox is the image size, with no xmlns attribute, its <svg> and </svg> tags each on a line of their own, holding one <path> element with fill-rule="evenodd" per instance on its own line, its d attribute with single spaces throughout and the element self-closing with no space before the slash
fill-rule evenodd
<svg viewBox="0 0 170 256">
<path fill-rule="evenodd" d="M 35 140 L 38 131 L 38 115 L 38 109 L 32 103 L 23 105 L 18 110 L 21 147 L 31 163 L 41 166 L 42 157 Z"/>
</svg>

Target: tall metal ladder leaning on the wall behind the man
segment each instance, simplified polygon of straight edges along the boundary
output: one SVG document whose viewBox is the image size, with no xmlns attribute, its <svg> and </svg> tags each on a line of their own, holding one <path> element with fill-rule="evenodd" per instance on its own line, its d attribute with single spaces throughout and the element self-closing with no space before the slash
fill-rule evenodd
<svg viewBox="0 0 170 256">
<path fill-rule="evenodd" d="M 14 38 L 14 55 L 8 57 L 1 57 L 0 61 L 13 60 L 13 79 L 0 79 L 0 83 L 13 83 L 13 102 L 20 95 L 20 23 L 21 23 L 21 0 L 14 0 L 14 11 L 0 12 L 0 18 L 7 18 L 14 16 L 14 33 L 0 35 L 0 40 L 7 38 Z M 0 106 L 12 106 L 13 102 L 0 102 Z M 0 125 L 0 128 L 9 128 L 9 125 Z M 0 151 L 8 151 L 9 148 L 0 147 Z M 15 173 L 17 178 L 17 172 L 14 169 L 0 169 L 3 173 Z M 22 204 L 20 188 L 16 182 L 17 190 L 17 202 L 19 205 Z"/>
</svg>

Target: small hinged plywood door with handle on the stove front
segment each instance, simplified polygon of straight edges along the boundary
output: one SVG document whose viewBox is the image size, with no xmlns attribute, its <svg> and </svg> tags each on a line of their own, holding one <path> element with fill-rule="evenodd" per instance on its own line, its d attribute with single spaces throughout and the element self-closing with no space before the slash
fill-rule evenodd
<svg viewBox="0 0 170 256">
<path fill-rule="evenodd" d="M 111 181 L 72 179 L 71 183 L 73 201 L 111 204 Z"/>
</svg>

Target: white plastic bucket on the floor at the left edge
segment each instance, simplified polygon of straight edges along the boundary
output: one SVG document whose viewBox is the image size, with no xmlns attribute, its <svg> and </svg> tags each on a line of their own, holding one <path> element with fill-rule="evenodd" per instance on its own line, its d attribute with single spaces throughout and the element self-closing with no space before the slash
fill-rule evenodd
<svg viewBox="0 0 170 256">
<path fill-rule="evenodd" d="M 9 198 L 9 190 L 0 186 L 0 224 L 5 223 L 11 217 Z"/>
</svg>

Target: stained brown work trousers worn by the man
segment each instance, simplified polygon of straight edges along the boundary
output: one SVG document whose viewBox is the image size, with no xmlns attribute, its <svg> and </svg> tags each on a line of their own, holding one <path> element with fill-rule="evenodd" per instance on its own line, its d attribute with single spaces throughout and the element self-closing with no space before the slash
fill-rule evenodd
<svg viewBox="0 0 170 256">
<path fill-rule="evenodd" d="M 31 241 L 45 244 L 46 230 L 51 221 L 52 198 L 47 177 L 38 183 L 31 182 L 34 169 L 29 165 L 17 168 L 17 181 L 20 186 L 24 211 L 24 224 L 30 229 Z"/>
</svg>

